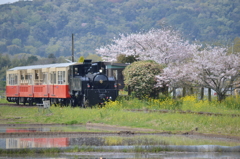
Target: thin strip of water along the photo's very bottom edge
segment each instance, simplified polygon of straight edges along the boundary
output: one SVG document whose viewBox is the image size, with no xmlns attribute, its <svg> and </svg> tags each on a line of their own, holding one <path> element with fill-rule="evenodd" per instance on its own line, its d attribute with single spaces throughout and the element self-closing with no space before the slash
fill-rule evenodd
<svg viewBox="0 0 240 159">
<path fill-rule="evenodd" d="M 57 155 L 5 155 L 0 159 L 238 159 L 239 153 L 113 153 L 113 152 L 82 152 Z"/>
</svg>

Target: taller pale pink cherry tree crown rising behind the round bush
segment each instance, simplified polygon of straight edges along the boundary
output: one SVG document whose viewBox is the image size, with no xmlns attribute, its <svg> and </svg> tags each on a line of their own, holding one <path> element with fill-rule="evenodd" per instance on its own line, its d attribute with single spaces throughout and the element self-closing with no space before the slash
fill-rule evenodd
<svg viewBox="0 0 240 159">
<path fill-rule="evenodd" d="M 147 33 L 120 34 L 113 43 L 96 50 L 103 60 L 116 61 L 120 54 L 154 60 L 159 64 L 178 63 L 189 58 L 198 45 L 189 44 L 171 29 L 152 29 Z"/>
</svg>

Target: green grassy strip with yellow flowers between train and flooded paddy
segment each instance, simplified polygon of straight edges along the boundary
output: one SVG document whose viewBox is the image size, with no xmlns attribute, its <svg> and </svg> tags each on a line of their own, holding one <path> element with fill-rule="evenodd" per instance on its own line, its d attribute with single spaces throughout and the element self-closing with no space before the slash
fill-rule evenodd
<svg viewBox="0 0 240 159">
<path fill-rule="evenodd" d="M 240 136 L 240 117 L 229 114 L 240 114 L 236 98 L 229 98 L 222 103 L 217 101 L 198 101 L 195 97 L 185 97 L 177 101 L 167 98 L 160 99 L 129 99 L 109 102 L 104 108 L 71 108 L 51 106 L 51 114 L 41 113 L 36 107 L 0 107 L 2 124 L 28 123 L 64 123 L 85 124 L 104 123 L 109 125 L 148 128 L 155 131 L 186 132 L 196 128 L 199 133 Z M 235 106 L 233 106 L 236 104 Z M 126 111 L 126 109 L 161 110 L 171 113 Z M 176 110 L 193 112 L 212 112 L 226 114 L 209 116 L 198 114 L 180 114 Z"/>
</svg>

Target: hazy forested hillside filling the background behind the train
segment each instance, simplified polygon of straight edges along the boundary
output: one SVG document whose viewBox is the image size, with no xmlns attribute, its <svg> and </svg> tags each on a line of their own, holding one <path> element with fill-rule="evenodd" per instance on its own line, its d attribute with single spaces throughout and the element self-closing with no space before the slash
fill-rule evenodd
<svg viewBox="0 0 240 159">
<path fill-rule="evenodd" d="M 0 5 L 0 53 L 87 56 L 119 33 L 172 26 L 189 40 L 240 36 L 239 0 L 33 0 Z"/>
</svg>

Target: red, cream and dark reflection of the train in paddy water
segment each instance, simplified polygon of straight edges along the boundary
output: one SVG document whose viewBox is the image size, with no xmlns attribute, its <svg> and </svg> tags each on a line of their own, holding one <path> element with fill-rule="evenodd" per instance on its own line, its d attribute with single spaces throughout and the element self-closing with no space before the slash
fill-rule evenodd
<svg viewBox="0 0 240 159">
<path fill-rule="evenodd" d="M 5 128 L 2 133 L 26 133 L 26 132 L 46 132 L 48 128 Z M 100 146 L 105 145 L 104 138 L 101 137 L 80 137 L 80 138 L 6 138 L 0 139 L 0 149 L 21 149 L 21 148 L 57 148 L 75 145 Z"/>
</svg>

